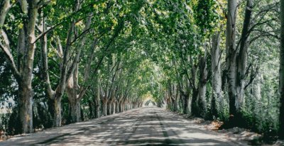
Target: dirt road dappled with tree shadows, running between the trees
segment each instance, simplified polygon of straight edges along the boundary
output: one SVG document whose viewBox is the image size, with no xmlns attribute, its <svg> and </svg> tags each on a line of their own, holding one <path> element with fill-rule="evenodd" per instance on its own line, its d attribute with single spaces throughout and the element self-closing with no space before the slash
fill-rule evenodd
<svg viewBox="0 0 284 146">
<path fill-rule="evenodd" d="M 244 145 L 162 108 L 143 107 L 18 135 L 0 145 Z"/>
</svg>

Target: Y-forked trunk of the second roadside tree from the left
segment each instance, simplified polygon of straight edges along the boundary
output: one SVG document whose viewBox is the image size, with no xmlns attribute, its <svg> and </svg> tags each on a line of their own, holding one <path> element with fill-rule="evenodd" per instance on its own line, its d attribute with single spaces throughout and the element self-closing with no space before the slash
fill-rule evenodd
<svg viewBox="0 0 284 146">
<path fill-rule="evenodd" d="M 42 22 L 42 30 L 43 33 L 45 31 L 45 20 L 43 18 Z M 70 28 L 67 33 L 67 45 L 65 46 L 64 52 L 62 52 L 62 45 L 60 43 L 60 40 L 58 39 L 56 41 L 57 50 L 58 50 L 58 57 L 62 59 L 62 62 L 60 62 L 60 82 L 58 86 L 56 87 L 55 91 L 51 88 L 50 84 L 50 78 L 48 73 L 48 49 L 47 49 L 47 37 L 46 35 L 43 35 L 42 38 L 40 38 L 40 44 L 41 44 L 41 67 L 43 78 L 45 81 L 45 94 L 48 96 L 50 101 L 52 102 L 52 106 L 50 111 L 52 111 L 53 114 L 53 126 L 59 127 L 61 126 L 61 99 L 62 95 L 65 91 L 65 85 L 66 85 L 66 78 L 67 78 L 67 63 L 69 59 L 69 50 L 70 50 L 70 43 L 72 41 L 72 32 L 74 30 L 74 22 L 70 23 Z"/>
</svg>

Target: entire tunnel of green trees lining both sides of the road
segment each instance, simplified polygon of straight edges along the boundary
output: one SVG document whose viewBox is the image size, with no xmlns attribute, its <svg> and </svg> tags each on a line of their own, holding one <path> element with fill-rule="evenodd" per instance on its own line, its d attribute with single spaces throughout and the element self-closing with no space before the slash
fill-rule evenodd
<svg viewBox="0 0 284 146">
<path fill-rule="evenodd" d="M 1 0 L 1 101 L 21 133 L 138 107 L 149 91 L 173 111 L 283 133 L 280 4 Z"/>
</svg>

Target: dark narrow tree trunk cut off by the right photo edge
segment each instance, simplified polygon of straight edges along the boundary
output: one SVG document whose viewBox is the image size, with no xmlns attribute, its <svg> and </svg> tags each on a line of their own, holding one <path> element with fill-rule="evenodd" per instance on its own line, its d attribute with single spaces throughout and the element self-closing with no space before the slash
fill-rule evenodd
<svg viewBox="0 0 284 146">
<path fill-rule="evenodd" d="M 279 115 L 279 136 L 284 139 L 284 0 L 280 0 L 280 115 Z"/>
</svg>

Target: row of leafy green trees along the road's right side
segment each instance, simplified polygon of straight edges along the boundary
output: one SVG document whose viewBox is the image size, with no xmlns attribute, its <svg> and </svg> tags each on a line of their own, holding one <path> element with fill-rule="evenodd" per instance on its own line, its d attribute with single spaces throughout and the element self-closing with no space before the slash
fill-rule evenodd
<svg viewBox="0 0 284 146">
<path fill-rule="evenodd" d="M 165 80 L 160 90 L 163 96 L 157 100 L 173 111 L 223 120 L 226 128 L 241 126 L 267 136 L 281 135 L 279 1 L 208 0 L 187 5 L 177 1 L 177 7 L 165 5 L 168 9 L 163 11 L 182 11 L 183 15 L 172 22 L 176 28 L 162 23 L 175 33 L 158 33 L 167 38 L 158 38 L 166 49 L 158 52 L 165 53 L 158 57 Z M 159 21 L 165 22 L 163 19 Z"/>
</svg>

